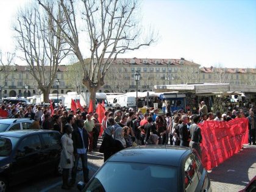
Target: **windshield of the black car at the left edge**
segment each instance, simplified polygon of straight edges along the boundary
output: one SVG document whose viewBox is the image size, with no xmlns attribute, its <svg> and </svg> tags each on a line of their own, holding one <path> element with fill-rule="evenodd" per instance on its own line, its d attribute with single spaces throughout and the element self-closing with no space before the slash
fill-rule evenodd
<svg viewBox="0 0 256 192">
<path fill-rule="evenodd" d="M 16 137 L 2 137 L 0 136 L 0 157 L 7 157 L 15 148 L 19 139 Z"/>
</svg>

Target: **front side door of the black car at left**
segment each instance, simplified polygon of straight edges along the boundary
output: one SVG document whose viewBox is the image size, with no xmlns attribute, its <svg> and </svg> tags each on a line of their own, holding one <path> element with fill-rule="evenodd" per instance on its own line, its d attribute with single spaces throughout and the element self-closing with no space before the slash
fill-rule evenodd
<svg viewBox="0 0 256 192">
<path fill-rule="evenodd" d="M 13 182 L 22 182 L 40 174 L 41 140 L 39 135 L 23 138 L 16 148 L 12 162 Z"/>
</svg>

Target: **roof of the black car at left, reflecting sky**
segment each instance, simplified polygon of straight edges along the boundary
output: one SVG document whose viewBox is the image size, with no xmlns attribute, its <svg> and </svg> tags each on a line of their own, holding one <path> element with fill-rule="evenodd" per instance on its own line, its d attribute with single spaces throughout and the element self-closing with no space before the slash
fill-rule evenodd
<svg viewBox="0 0 256 192">
<path fill-rule="evenodd" d="M 45 129 L 26 129 L 26 130 L 13 130 L 13 131 L 7 131 L 7 132 L 1 132 L 0 136 L 5 137 L 23 137 L 25 135 L 34 135 L 35 133 L 41 133 L 41 132 L 57 132 L 55 130 L 45 130 Z M 59 132 L 57 132 L 59 133 Z"/>
</svg>

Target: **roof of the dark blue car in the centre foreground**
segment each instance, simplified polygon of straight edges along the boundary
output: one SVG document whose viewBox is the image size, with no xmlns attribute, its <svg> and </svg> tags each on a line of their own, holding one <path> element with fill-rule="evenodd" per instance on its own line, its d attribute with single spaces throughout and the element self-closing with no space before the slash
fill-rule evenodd
<svg viewBox="0 0 256 192">
<path fill-rule="evenodd" d="M 180 166 L 191 148 L 170 145 L 137 146 L 117 152 L 108 162 L 149 163 L 164 166 Z"/>
</svg>

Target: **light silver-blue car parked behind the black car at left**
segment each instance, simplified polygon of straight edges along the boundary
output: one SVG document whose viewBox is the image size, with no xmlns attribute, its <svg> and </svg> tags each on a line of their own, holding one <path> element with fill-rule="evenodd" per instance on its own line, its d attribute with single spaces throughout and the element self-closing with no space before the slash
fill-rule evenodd
<svg viewBox="0 0 256 192">
<path fill-rule="evenodd" d="M 0 119 L 0 132 L 30 129 L 30 125 L 33 123 L 33 121 L 34 120 L 30 120 L 29 118 Z"/>
</svg>

